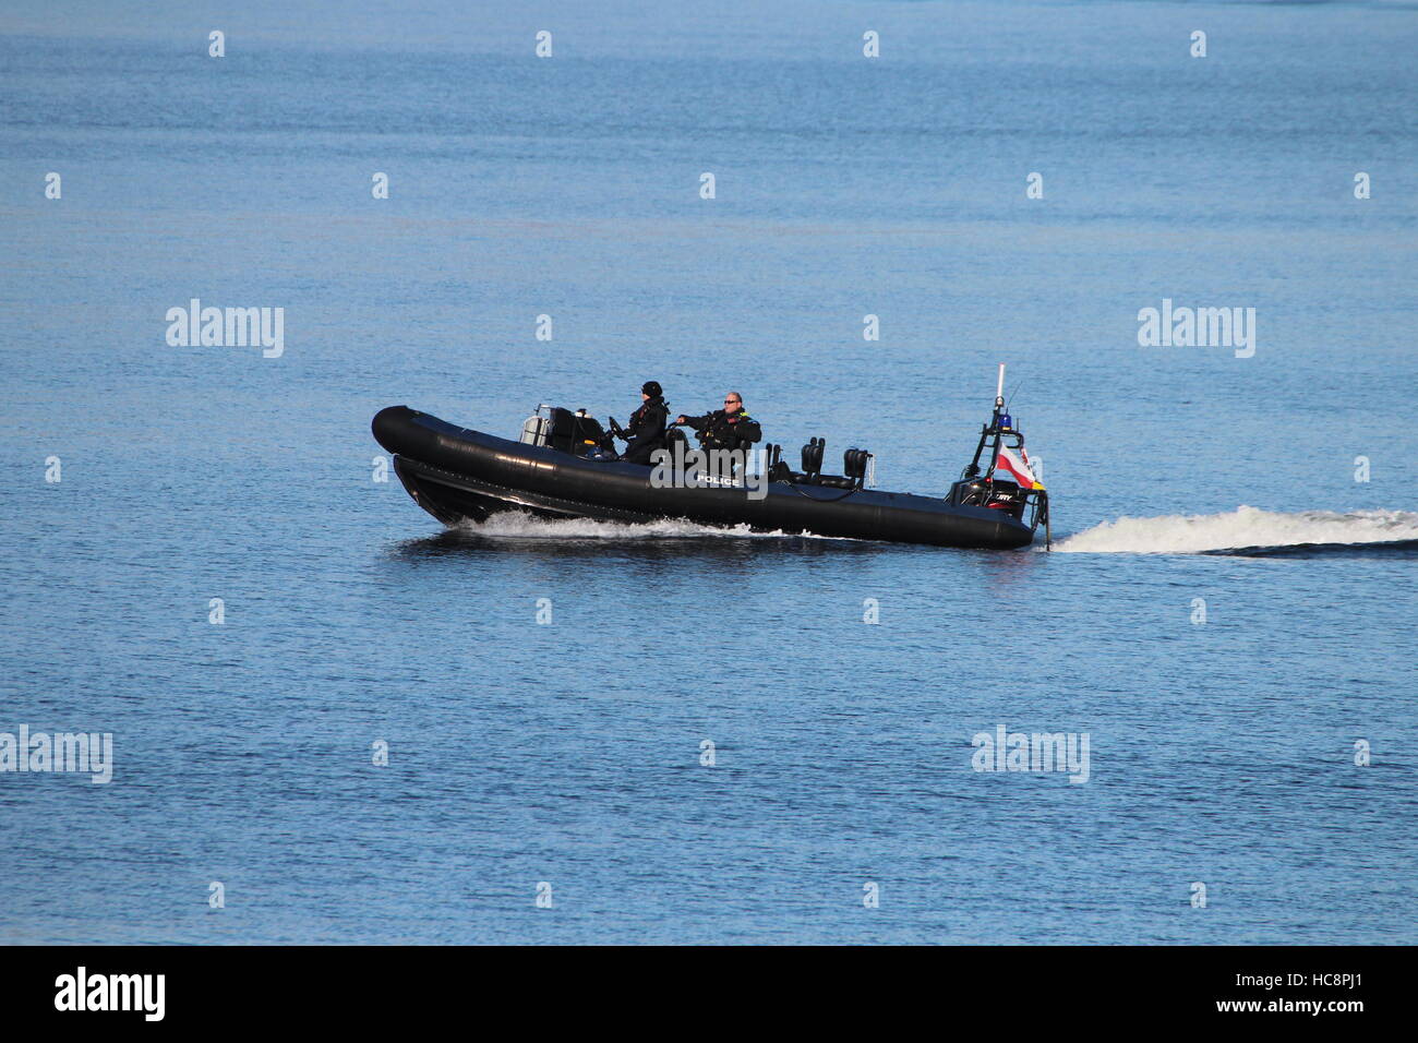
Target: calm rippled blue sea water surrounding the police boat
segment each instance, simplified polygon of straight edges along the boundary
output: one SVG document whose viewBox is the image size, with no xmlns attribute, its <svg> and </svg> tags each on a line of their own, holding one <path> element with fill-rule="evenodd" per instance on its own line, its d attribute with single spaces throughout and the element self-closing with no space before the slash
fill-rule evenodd
<svg viewBox="0 0 1418 1043">
<path fill-rule="evenodd" d="M 0 734 L 112 776 L 0 772 L 0 939 L 1418 941 L 1415 45 L 1402 4 L 7 6 Z M 193 299 L 281 352 L 169 338 Z M 940 495 L 998 362 L 1052 553 L 445 531 L 369 433 L 655 379 Z M 986 742 L 1041 735 L 1086 780 Z"/>
</svg>

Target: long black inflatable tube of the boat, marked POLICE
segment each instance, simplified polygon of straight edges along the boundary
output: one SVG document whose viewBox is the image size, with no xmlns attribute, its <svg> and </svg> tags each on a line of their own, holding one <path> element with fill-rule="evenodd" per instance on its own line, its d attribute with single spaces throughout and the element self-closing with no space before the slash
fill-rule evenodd
<svg viewBox="0 0 1418 1043">
<path fill-rule="evenodd" d="M 759 532 L 810 532 L 936 546 L 1014 549 L 1034 532 L 1003 511 L 908 492 L 767 482 L 766 495 L 737 488 L 669 488 L 651 468 L 584 460 L 560 450 L 455 427 L 407 406 L 380 410 L 374 438 L 394 454 L 410 495 L 441 522 L 482 521 L 498 511 L 644 522 L 685 518 L 747 525 Z"/>
</svg>

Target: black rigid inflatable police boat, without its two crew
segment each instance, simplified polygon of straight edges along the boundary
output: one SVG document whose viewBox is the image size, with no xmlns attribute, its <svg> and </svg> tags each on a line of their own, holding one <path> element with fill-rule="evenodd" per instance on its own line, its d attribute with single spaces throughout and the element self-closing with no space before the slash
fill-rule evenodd
<svg viewBox="0 0 1418 1043">
<path fill-rule="evenodd" d="M 584 410 L 539 406 L 520 441 L 457 427 L 407 406 L 380 410 L 374 438 L 414 501 L 445 525 L 499 511 L 546 518 L 647 522 L 683 518 L 757 532 L 814 534 L 899 543 L 1015 549 L 1048 532 L 1048 494 L 1034 480 L 1024 436 L 1003 399 L 981 429 L 974 460 L 943 498 L 868 488 L 872 454 L 849 448 L 844 474 L 822 474 L 824 443 L 803 447 L 803 470 L 767 444 L 759 467 L 713 461 L 671 429 L 654 467 L 617 460 L 611 434 Z M 547 410 L 546 416 L 542 412 Z"/>
</svg>

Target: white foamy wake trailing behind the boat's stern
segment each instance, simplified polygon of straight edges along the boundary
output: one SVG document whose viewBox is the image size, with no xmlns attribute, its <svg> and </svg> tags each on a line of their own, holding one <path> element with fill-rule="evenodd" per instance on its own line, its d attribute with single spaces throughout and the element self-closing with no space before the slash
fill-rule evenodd
<svg viewBox="0 0 1418 1043">
<path fill-rule="evenodd" d="M 1307 543 L 1366 545 L 1418 539 L 1412 511 L 1297 511 L 1238 507 L 1224 514 L 1119 518 L 1054 545 L 1073 553 L 1207 553 Z"/>
</svg>

